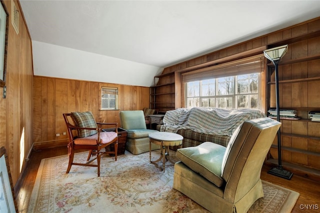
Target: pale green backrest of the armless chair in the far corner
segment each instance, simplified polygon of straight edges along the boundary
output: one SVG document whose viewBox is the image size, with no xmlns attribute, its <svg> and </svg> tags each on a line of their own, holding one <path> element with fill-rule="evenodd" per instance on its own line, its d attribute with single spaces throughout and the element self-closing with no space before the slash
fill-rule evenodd
<svg viewBox="0 0 320 213">
<path fill-rule="evenodd" d="M 146 129 L 144 114 L 142 110 L 121 111 L 121 127 L 125 130 Z"/>
</svg>

